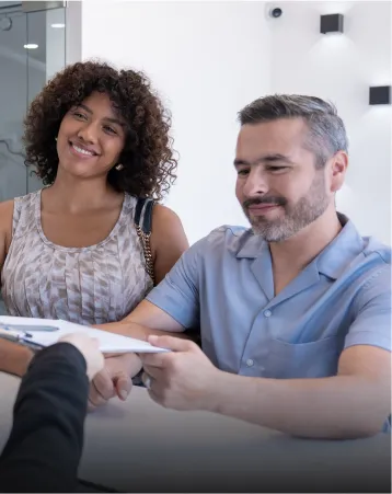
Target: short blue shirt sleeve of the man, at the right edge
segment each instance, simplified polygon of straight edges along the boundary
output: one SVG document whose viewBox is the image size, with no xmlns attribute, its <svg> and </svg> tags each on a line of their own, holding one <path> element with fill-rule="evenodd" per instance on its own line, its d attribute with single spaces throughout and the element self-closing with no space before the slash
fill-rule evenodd
<svg viewBox="0 0 392 494">
<path fill-rule="evenodd" d="M 383 265 L 366 283 L 356 302 L 357 317 L 345 348 L 371 345 L 391 352 L 391 266 Z"/>
</svg>

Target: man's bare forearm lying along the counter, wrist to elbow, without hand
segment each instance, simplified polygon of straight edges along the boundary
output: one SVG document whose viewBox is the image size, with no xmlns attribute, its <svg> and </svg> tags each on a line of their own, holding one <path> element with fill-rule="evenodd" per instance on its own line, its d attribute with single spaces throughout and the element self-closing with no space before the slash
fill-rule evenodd
<svg viewBox="0 0 392 494">
<path fill-rule="evenodd" d="M 390 397 L 354 376 L 265 379 L 221 372 L 207 407 L 286 434 L 357 438 L 381 430 Z"/>
</svg>

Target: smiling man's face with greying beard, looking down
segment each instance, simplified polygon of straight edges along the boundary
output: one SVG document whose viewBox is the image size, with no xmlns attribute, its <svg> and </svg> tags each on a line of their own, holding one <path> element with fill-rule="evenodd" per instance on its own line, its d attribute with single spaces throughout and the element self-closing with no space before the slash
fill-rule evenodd
<svg viewBox="0 0 392 494">
<path fill-rule="evenodd" d="M 235 194 L 256 234 L 281 242 L 316 220 L 334 203 L 333 164 L 315 168 L 301 118 L 241 128 Z M 338 188 L 338 187 L 337 187 Z"/>
</svg>

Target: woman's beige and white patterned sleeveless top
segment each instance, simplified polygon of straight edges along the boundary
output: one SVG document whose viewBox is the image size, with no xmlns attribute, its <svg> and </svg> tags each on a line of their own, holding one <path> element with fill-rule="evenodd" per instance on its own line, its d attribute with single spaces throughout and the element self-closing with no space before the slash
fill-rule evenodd
<svg viewBox="0 0 392 494">
<path fill-rule="evenodd" d="M 65 248 L 44 234 L 41 191 L 15 198 L 12 242 L 1 274 L 8 313 L 79 324 L 104 324 L 129 314 L 153 285 L 134 221 L 137 200 L 125 195 L 119 218 L 102 242 Z"/>
</svg>

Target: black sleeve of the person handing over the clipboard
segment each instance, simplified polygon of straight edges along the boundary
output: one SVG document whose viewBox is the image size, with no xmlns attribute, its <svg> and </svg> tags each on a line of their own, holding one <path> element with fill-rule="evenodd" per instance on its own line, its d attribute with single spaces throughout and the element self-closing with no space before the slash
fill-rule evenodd
<svg viewBox="0 0 392 494">
<path fill-rule="evenodd" d="M 89 380 L 69 343 L 41 351 L 24 376 L 0 457 L 1 492 L 74 492 Z"/>
</svg>

